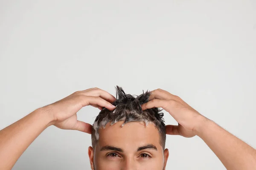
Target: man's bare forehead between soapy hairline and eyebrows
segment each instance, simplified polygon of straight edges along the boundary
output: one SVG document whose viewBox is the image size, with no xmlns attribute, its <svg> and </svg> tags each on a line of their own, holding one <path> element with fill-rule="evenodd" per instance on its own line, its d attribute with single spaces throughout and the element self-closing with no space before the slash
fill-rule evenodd
<svg viewBox="0 0 256 170">
<path fill-rule="evenodd" d="M 123 121 L 114 125 L 108 123 L 105 128 L 99 129 L 99 146 L 111 145 L 124 150 L 137 150 L 145 144 L 154 144 L 161 150 L 160 135 L 153 123 L 128 122 L 122 126 Z"/>
</svg>

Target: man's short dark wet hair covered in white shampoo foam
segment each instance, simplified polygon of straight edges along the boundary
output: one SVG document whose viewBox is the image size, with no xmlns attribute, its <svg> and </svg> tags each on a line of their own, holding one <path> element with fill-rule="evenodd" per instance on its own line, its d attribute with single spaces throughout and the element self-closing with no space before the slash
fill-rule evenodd
<svg viewBox="0 0 256 170">
<path fill-rule="evenodd" d="M 99 128 L 105 128 L 108 122 L 110 122 L 110 125 L 114 125 L 116 122 L 124 121 L 122 126 L 128 122 L 145 122 L 145 125 L 153 123 L 160 134 L 160 144 L 164 149 L 166 129 L 163 113 L 159 108 L 151 108 L 144 111 L 142 111 L 141 108 L 142 104 L 148 102 L 150 94 L 150 91 L 146 91 L 145 93 L 143 91 L 143 94 L 140 94 L 139 96 L 125 94 L 121 87 L 116 86 L 116 101 L 112 103 L 116 108 L 113 111 L 110 111 L 107 108 L 102 108 L 102 111 L 99 112 L 99 115 L 93 123 L 91 136 L 93 148 L 99 140 Z"/>
</svg>

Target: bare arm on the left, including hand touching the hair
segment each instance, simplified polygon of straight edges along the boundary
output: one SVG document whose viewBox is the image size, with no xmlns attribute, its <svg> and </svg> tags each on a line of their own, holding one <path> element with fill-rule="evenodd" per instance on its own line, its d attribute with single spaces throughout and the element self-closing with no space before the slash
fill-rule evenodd
<svg viewBox="0 0 256 170">
<path fill-rule="evenodd" d="M 36 137 L 50 125 L 91 133 L 92 126 L 77 120 L 76 112 L 92 105 L 113 110 L 114 96 L 99 88 L 77 91 L 58 102 L 39 108 L 0 130 L 0 169 L 10 170 Z"/>
</svg>

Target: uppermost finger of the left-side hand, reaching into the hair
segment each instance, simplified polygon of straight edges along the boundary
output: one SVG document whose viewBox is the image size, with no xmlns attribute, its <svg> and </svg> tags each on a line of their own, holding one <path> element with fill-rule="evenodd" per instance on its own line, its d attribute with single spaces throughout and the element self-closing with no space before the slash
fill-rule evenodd
<svg viewBox="0 0 256 170">
<path fill-rule="evenodd" d="M 104 90 L 99 89 L 99 88 L 92 88 L 89 91 L 82 91 L 82 93 L 84 95 L 87 95 L 87 96 L 101 97 L 102 99 L 105 99 L 105 100 L 107 100 L 108 102 L 111 102 L 111 103 L 116 101 L 116 98 L 113 95 L 111 95 L 107 91 L 104 91 Z"/>
</svg>

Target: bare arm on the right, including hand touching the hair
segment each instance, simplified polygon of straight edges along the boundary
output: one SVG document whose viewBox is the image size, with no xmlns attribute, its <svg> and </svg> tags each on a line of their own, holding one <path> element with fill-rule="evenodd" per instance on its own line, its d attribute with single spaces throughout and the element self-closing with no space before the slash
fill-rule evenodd
<svg viewBox="0 0 256 170">
<path fill-rule="evenodd" d="M 218 156 L 227 170 L 253 170 L 256 168 L 256 150 L 211 120 L 202 116 L 180 97 L 157 89 L 151 92 L 143 110 L 163 108 L 178 125 L 166 125 L 166 134 L 193 137 L 198 135 Z"/>
</svg>

